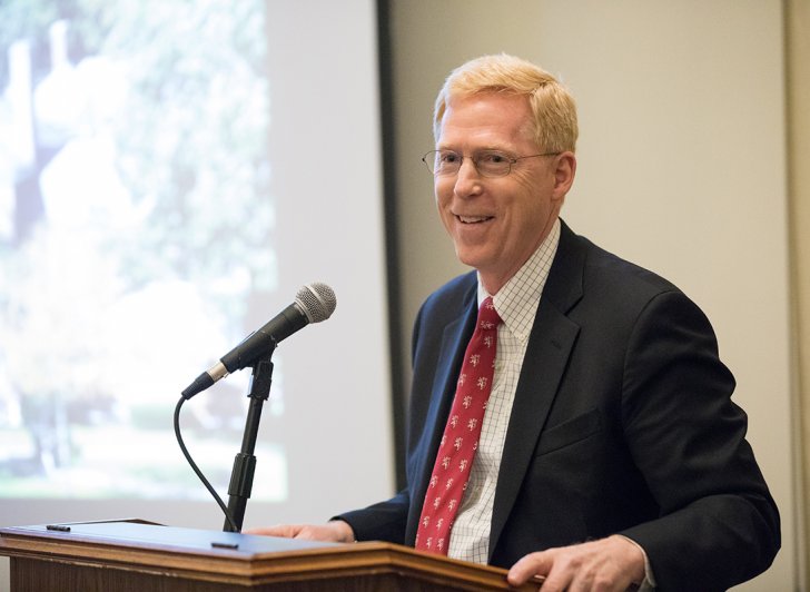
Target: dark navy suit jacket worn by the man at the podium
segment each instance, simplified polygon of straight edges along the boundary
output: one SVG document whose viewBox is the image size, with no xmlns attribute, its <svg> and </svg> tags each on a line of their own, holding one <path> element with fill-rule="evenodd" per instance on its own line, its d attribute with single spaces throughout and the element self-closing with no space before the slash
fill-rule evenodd
<svg viewBox="0 0 810 592">
<path fill-rule="evenodd" d="M 474 273 L 419 310 L 407 486 L 340 516 L 358 540 L 414 544 L 475 310 Z M 660 590 L 723 590 L 765 570 L 779 514 L 733 388 L 691 300 L 563 224 L 504 444 L 490 563 L 621 533 L 646 551 Z"/>
</svg>

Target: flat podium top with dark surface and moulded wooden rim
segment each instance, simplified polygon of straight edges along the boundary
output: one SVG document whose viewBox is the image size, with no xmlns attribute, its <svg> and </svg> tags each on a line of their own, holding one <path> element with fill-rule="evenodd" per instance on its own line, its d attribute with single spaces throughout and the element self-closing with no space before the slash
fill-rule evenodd
<svg viewBox="0 0 810 592">
<path fill-rule="evenodd" d="M 424 590 L 513 590 L 506 571 L 383 542 L 326 543 L 141 520 L 0 529 L 0 555 L 239 586 L 393 578 Z M 12 563 L 13 565 L 13 563 Z M 423 588 L 417 588 L 423 590 Z M 264 588 L 263 588 L 264 590 Z M 537 582 L 518 590 L 537 590 Z"/>
</svg>

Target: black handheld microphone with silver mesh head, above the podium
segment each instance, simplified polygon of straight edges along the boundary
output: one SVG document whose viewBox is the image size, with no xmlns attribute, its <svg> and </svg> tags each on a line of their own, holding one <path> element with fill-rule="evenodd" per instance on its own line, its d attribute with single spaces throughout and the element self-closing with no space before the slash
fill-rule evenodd
<svg viewBox="0 0 810 592">
<path fill-rule="evenodd" d="M 228 374 L 254 364 L 263 354 L 275 348 L 309 323 L 320 323 L 332 316 L 337 306 L 335 292 L 326 284 L 316 282 L 303 286 L 295 302 L 273 317 L 260 329 L 248 335 L 239 345 L 225 354 L 210 369 L 204 372 L 182 391 L 188 399 L 205 391 Z"/>
</svg>

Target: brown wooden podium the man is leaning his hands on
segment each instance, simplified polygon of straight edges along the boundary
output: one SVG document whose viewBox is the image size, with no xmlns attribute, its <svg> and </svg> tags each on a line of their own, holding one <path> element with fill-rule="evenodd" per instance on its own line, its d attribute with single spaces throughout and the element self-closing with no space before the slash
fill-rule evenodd
<svg viewBox="0 0 810 592">
<path fill-rule="evenodd" d="M 0 529 L 0 555 L 11 558 L 12 592 L 511 590 L 505 570 L 391 543 L 315 543 L 140 520 Z"/>
</svg>

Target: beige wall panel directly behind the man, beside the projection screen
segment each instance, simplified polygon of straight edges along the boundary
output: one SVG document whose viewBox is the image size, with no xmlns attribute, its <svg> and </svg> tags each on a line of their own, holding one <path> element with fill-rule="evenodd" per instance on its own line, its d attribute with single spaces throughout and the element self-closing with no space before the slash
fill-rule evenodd
<svg viewBox="0 0 810 592">
<path fill-rule="evenodd" d="M 506 51 L 580 107 L 563 217 L 680 285 L 708 313 L 780 506 L 783 547 L 744 590 L 797 582 L 791 454 L 784 56 L 778 0 L 392 2 L 403 326 L 463 270 L 419 157 L 450 69 Z M 409 351 L 409 349 L 405 349 Z"/>
</svg>

